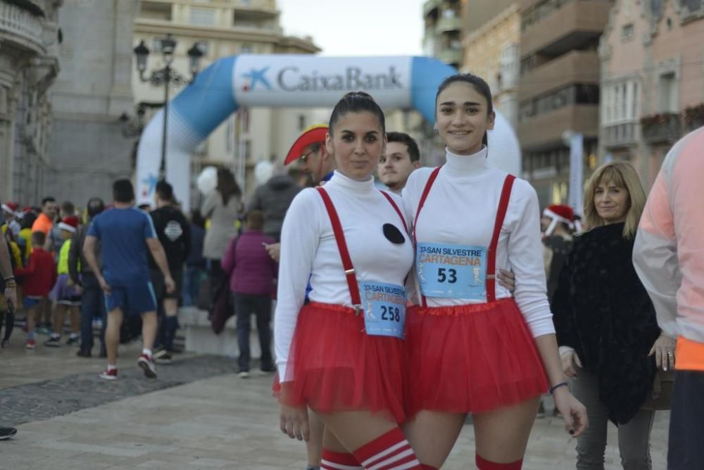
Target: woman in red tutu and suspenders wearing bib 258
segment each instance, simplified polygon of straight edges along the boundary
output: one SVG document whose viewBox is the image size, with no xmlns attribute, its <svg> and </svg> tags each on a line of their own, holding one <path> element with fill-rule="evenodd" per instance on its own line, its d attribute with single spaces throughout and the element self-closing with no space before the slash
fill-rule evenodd
<svg viewBox="0 0 704 470">
<path fill-rule="evenodd" d="M 281 431 L 308 440 L 310 407 L 326 428 L 322 469 L 422 469 L 398 428 L 413 244 L 401 199 L 372 178 L 386 146 L 384 114 L 368 94 L 350 93 L 328 132 L 338 169 L 325 187 L 296 196 L 281 234 Z"/>
</svg>

